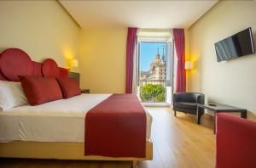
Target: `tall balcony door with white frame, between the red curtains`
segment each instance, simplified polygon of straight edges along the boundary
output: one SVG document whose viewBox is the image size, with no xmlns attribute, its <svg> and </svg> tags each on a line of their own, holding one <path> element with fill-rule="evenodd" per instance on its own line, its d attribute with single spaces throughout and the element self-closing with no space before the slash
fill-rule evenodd
<svg viewBox="0 0 256 168">
<path fill-rule="evenodd" d="M 170 39 L 137 41 L 137 95 L 143 103 L 172 103 L 173 51 Z"/>
</svg>

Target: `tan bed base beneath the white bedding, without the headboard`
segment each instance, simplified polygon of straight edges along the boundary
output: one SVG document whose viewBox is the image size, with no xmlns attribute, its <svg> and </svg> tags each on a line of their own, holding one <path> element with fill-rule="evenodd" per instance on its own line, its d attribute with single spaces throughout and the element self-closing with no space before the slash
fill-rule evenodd
<svg viewBox="0 0 256 168">
<path fill-rule="evenodd" d="M 131 160 L 132 167 L 135 168 L 137 167 L 138 160 L 153 159 L 153 143 L 146 143 L 145 158 L 113 158 L 96 155 L 84 156 L 84 143 L 38 143 L 15 141 L 10 143 L 0 143 L 0 157 L 56 160 Z"/>
</svg>

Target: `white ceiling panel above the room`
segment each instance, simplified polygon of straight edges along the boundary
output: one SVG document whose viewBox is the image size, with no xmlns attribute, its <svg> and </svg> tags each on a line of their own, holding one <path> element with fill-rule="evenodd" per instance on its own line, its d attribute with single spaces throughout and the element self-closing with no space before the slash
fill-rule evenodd
<svg viewBox="0 0 256 168">
<path fill-rule="evenodd" d="M 60 0 L 82 28 L 188 28 L 218 0 Z"/>
</svg>

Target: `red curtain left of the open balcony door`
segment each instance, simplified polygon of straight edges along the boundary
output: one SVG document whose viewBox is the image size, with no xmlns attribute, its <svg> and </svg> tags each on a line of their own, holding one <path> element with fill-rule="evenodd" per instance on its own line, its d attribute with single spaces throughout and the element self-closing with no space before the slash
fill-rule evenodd
<svg viewBox="0 0 256 168">
<path fill-rule="evenodd" d="M 133 54 L 136 45 L 137 28 L 129 27 L 126 41 L 126 82 L 125 93 L 132 92 Z"/>
</svg>

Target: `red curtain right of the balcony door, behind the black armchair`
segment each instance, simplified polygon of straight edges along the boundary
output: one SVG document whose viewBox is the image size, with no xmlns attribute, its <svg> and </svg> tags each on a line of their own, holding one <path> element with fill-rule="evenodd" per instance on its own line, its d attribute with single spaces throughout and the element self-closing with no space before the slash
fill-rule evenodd
<svg viewBox="0 0 256 168">
<path fill-rule="evenodd" d="M 175 50 L 177 53 L 176 92 L 186 92 L 185 35 L 184 29 L 173 29 Z"/>
</svg>

